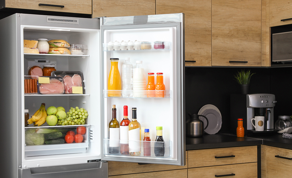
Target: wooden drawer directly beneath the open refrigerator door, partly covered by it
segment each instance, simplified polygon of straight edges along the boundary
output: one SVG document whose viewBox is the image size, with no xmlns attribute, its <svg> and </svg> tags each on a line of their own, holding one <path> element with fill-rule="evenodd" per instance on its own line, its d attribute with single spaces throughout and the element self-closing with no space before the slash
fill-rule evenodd
<svg viewBox="0 0 292 178">
<path fill-rule="evenodd" d="M 134 174 L 134 173 L 141 173 L 141 172 L 187 169 L 187 152 L 188 151 L 186 151 L 186 165 L 185 166 L 174 166 L 174 165 L 163 165 L 163 164 L 139 165 L 138 163 L 109 161 L 108 175 L 111 176 L 111 175 L 121 175 L 121 174 Z"/>
</svg>

